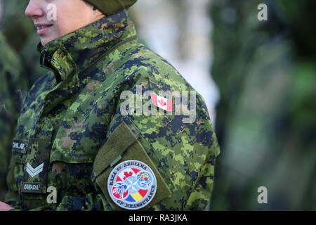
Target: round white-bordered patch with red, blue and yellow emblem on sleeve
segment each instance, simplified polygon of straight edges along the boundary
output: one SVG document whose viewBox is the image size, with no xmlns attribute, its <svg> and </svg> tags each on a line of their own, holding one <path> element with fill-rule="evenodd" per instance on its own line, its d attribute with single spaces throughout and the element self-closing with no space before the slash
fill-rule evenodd
<svg viewBox="0 0 316 225">
<path fill-rule="evenodd" d="M 138 160 L 119 163 L 107 179 L 107 191 L 115 204 L 126 210 L 139 210 L 148 205 L 157 191 L 152 169 Z"/>
</svg>

